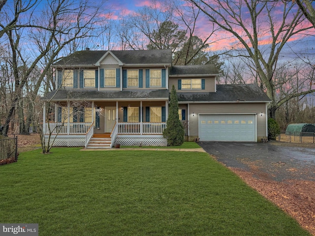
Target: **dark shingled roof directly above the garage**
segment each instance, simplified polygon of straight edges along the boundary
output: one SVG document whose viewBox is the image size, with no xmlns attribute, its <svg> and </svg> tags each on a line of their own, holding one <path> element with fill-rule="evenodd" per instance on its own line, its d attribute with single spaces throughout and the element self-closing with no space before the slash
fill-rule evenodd
<svg viewBox="0 0 315 236">
<path fill-rule="evenodd" d="M 270 102 L 257 84 L 217 85 L 217 92 L 177 92 L 178 102 Z"/>
</svg>

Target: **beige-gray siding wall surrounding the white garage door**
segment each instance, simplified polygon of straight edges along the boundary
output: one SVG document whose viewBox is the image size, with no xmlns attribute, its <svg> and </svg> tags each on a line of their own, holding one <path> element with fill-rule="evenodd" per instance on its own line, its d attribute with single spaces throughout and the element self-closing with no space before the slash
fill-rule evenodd
<svg viewBox="0 0 315 236">
<path fill-rule="evenodd" d="M 263 116 L 260 116 L 261 112 Z M 257 114 L 257 137 L 266 136 L 265 103 L 189 104 L 190 136 L 198 136 L 198 114 Z"/>
</svg>

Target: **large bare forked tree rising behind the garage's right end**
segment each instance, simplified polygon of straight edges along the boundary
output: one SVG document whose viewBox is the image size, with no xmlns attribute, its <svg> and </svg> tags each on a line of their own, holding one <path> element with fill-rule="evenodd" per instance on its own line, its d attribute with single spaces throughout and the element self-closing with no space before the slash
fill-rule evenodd
<svg viewBox="0 0 315 236">
<path fill-rule="evenodd" d="M 286 1 L 238 1 L 238 0 L 189 0 L 197 6 L 208 19 L 236 39 L 231 45 L 234 49 L 243 48 L 237 56 L 252 60 L 253 69 L 272 100 L 269 117 L 275 118 L 276 110 L 293 97 L 314 92 L 315 89 L 289 94 L 277 100 L 274 72 L 280 53 L 293 36 L 312 29 L 306 22 L 301 10 L 292 2 Z M 279 3 L 282 4 L 279 4 Z M 281 11 L 281 14 L 276 13 Z M 247 12 L 247 14 L 244 14 Z M 267 42 L 266 42 L 267 39 Z M 240 52 L 240 51 L 239 51 Z"/>
</svg>

